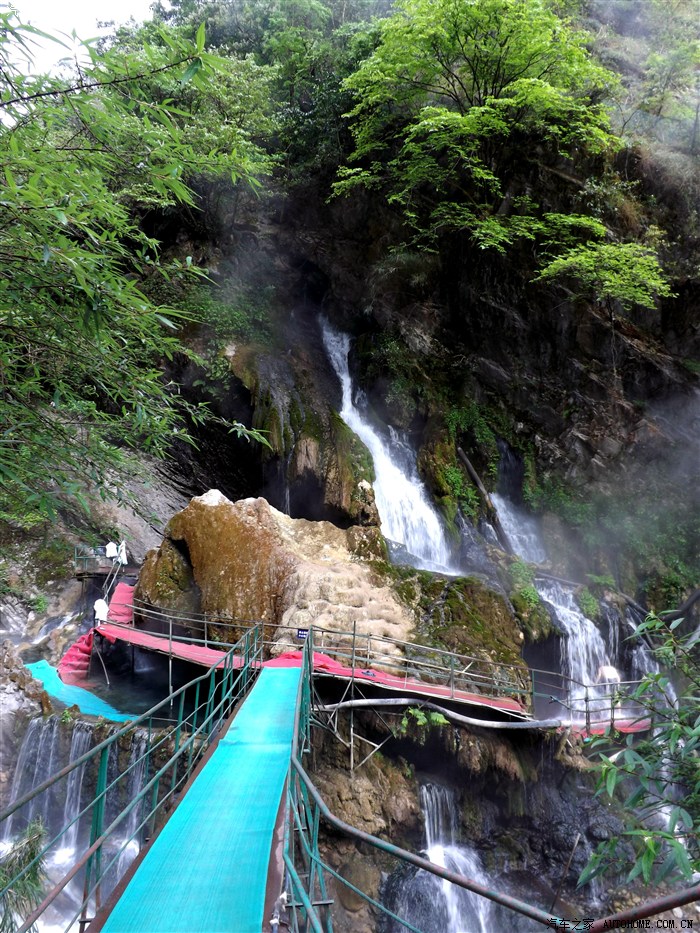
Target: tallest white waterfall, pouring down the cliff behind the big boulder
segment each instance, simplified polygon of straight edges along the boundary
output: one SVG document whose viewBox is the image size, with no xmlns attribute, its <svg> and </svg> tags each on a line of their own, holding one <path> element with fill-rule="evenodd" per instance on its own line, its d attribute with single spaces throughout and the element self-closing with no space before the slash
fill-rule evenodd
<svg viewBox="0 0 700 933">
<path fill-rule="evenodd" d="M 350 337 L 322 322 L 323 342 L 342 387 L 340 417 L 362 440 L 374 462 L 374 497 L 382 533 L 405 547 L 415 566 L 458 574 L 453 566 L 445 531 L 418 476 L 415 454 L 395 431 L 383 437 L 362 415 L 353 400 L 348 366 Z"/>
</svg>

